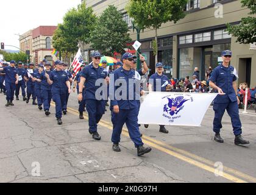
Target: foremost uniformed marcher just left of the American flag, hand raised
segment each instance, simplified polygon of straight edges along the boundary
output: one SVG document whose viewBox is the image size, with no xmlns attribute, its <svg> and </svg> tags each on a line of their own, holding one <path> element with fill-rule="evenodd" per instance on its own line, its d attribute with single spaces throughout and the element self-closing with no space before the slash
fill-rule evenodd
<svg viewBox="0 0 256 195">
<path fill-rule="evenodd" d="M 52 85 L 52 100 L 55 102 L 55 117 L 59 125 L 62 124 L 62 108 L 66 101 L 66 87 L 70 93 L 68 74 L 63 71 L 64 63 L 60 60 L 55 62 L 56 69 L 50 75 L 45 74 L 47 82 Z"/>
</svg>

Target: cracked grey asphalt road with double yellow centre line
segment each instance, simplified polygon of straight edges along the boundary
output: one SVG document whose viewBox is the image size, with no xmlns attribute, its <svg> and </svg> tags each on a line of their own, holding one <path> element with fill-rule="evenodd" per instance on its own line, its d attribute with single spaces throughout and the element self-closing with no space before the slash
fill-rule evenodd
<svg viewBox="0 0 256 195">
<path fill-rule="evenodd" d="M 254 110 L 240 112 L 249 146 L 235 146 L 227 114 L 222 119 L 224 143 L 213 141 L 210 107 L 201 127 L 168 126 L 169 133 L 163 134 L 158 126 L 141 126 L 143 142 L 152 151 L 137 157 L 126 127 L 121 152 L 112 151 L 108 108 L 98 127 L 101 141 L 91 138 L 87 113 L 79 119 L 74 93 L 62 126 L 54 106 L 46 117 L 31 101 L 13 103 L 5 107 L 0 94 L 0 182 L 256 182 Z"/>
</svg>

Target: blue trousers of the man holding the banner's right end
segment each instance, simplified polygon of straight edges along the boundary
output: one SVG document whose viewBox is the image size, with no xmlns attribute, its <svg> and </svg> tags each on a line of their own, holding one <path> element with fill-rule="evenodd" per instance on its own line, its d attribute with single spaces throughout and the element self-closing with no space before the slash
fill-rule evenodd
<svg viewBox="0 0 256 195">
<path fill-rule="evenodd" d="M 224 115 L 225 110 L 229 114 L 233 126 L 233 133 L 235 135 L 240 135 L 241 130 L 241 121 L 239 118 L 238 104 L 236 102 L 227 102 L 227 103 L 214 103 L 213 110 L 215 111 L 215 118 L 213 120 L 213 131 L 219 133 L 222 128 L 221 119 Z"/>
</svg>

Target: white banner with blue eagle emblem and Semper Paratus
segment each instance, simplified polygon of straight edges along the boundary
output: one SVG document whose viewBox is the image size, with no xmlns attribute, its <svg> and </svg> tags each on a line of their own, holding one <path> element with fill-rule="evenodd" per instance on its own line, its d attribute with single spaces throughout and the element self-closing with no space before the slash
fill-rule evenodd
<svg viewBox="0 0 256 195">
<path fill-rule="evenodd" d="M 138 124 L 201 126 L 207 108 L 217 95 L 151 92 L 141 104 Z"/>
</svg>

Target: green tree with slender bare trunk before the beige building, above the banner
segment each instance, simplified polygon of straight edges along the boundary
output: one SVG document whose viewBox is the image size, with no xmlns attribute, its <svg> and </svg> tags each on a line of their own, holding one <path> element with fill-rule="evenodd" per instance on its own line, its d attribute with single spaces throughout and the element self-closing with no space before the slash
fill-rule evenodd
<svg viewBox="0 0 256 195">
<path fill-rule="evenodd" d="M 140 29 L 155 30 L 154 49 L 155 62 L 157 62 L 157 29 L 168 21 L 177 23 L 185 17 L 183 11 L 188 0 L 130 0 L 126 10 L 134 24 Z"/>
</svg>

